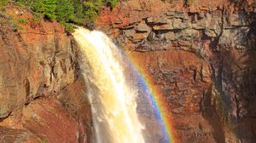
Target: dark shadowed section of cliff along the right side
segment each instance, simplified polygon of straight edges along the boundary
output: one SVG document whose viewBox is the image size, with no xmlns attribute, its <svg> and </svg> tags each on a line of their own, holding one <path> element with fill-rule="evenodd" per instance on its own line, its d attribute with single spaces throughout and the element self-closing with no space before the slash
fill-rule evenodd
<svg viewBox="0 0 256 143">
<path fill-rule="evenodd" d="M 247 1 L 230 2 L 237 8 L 247 6 Z M 240 42 L 232 47 L 220 45 L 221 32 L 210 44 L 213 84 L 202 104 L 204 117 L 212 124 L 218 142 L 229 140 L 229 131 L 237 141 L 256 141 L 256 14 L 245 9 L 237 12 L 240 23 L 249 23 L 244 26 L 247 31 L 236 35 Z"/>
</svg>

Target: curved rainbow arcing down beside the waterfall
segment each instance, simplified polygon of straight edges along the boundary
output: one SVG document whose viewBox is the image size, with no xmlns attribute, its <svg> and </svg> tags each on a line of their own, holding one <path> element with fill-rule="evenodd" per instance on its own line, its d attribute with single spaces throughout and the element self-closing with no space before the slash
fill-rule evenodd
<svg viewBox="0 0 256 143">
<path fill-rule="evenodd" d="M 167 113 L 168 109 L 166 102 L 163 100 L 164 98 L 161 98 L 160 92 L 156 90 L 157 88 L 153 87 L 153 82 L 150 80 L 147 72 L 143 70 L 143 67 L 137 64 L 138 62 L 136 58 L 126 52 L 125 54 L 129 58 L 128 62 L 131 62 L 131 65 L 134 66 L 133 70 L 137 73 L 138 82 L 142 84 L 143 90 L 149 94 L 156 117 L 160 119 L 161 128 L 168 138 L 164 143 L 177 142 L 175 134 L 173 133 L 172 117 L 170 116 L 170 113 Z"/>
</svg>

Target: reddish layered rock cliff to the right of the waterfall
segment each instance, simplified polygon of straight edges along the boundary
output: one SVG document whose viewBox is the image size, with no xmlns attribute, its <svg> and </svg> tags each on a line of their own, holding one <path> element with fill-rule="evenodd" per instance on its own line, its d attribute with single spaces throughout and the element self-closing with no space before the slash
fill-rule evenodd
<svg viewBox="0 0 256 143">
<path fill-rule="evenodd" d="M 97 29 L 154 81 L 179 142 L 255 142 L 255 4 L 129 0 L 102 10 Z"/>
</svg>

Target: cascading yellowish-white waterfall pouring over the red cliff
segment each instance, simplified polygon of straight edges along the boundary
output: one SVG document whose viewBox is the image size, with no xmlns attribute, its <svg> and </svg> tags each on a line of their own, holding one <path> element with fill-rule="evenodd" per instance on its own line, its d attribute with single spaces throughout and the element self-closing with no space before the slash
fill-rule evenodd
<svg viewBox="0 0 256 143">
<path fill-rule="evenodd" d="M 143 143 L 136 91 L 129 89 L 119 51 L 100 31 L 79 27 L 73 33 L 81 49 L 97 143 Z"/>
</svg>

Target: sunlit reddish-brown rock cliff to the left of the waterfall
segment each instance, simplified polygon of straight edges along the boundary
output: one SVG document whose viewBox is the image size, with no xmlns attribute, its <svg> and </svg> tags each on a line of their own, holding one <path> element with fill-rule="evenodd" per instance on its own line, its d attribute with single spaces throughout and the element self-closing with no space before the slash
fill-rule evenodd
<svg viewBox="0 0 256 143">
<path fill-rule="evenodd" d="M 73 37 L 19 8 L 1 12 L 0 26 L 1 140 L 92 141 Z"/>
</svg>

